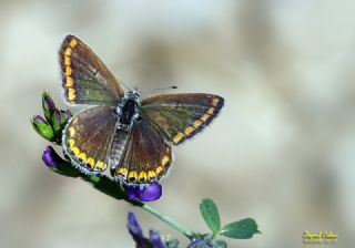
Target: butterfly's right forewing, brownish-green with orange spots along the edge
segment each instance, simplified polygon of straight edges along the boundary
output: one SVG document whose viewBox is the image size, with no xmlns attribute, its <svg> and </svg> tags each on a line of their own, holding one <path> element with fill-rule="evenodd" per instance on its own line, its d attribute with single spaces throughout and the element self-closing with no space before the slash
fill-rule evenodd
<svg viewBox="0 0 355 248">
<path fill-rule="evenodd" d="M 144 99 L 141 114 L 174 145 L 201 132 L 221 111 L 219 95 L 162 94 Z"/>
</svg>

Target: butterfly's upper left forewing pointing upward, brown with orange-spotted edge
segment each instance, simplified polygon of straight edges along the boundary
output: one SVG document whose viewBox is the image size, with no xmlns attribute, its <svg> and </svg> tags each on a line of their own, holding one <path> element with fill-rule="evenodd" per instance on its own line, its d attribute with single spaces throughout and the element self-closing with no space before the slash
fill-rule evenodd
<svg viewBox="0 0 355 248">
<path fill-rule="evenodd" d="M 73 104 L 115 105 L 124 92 L 100 58 L 79 38 L 67 35 L 59 60 L 65 100 Z"/>
</svg>

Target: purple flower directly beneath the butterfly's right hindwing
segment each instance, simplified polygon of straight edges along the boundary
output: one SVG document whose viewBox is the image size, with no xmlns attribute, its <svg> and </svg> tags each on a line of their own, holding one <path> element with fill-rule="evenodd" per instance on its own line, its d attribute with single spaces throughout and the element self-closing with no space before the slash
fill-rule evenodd
<svg viewBox="0 0 355 248">
<path fill-rule="evenodd" d="M 158 182 L 141 186 L 128 185 L 124 186 L 124 189 L 130 200 L 154 202 L 162 196 L 162 186 Z"/>
</svg>

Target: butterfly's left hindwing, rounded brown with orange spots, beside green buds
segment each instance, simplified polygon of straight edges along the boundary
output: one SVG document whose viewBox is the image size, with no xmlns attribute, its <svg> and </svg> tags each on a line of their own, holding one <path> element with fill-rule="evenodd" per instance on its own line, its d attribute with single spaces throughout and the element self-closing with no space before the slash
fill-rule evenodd
<svg viewBox="0 0 355 248">
<path fill-rule="evenodd" d="M 71 163 L 85 174 L 104 172 L 115 125 L 111 106 L 91 107 L 73 116 L 63 131 L 62 141 Z"/>
</svg>

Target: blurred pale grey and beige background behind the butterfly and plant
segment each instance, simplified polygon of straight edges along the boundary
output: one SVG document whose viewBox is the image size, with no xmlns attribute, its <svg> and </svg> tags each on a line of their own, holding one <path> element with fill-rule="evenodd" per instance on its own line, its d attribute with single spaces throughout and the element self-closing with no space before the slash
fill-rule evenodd
<svg viewBox="0 0 355 248">
<path fill-rule="evenodd" d="M 186 240 L 139 208 L 51 173 L 30 117 L 61 97 L 58 49 L 87 42 L 130 86 L 220 94 L 206 131 L 175 148 L 152 203 L 192 230 L 213 198 L 222 223 L 262 235 L 230 247 L 303 247 L 304 230 L 355 232 L 355 2 L 351 0 L 0 0 L 0 246 L 133 247 L 126 213 Z M 60 151 L 60 149 L 59 149 Z"/>
</svg>

